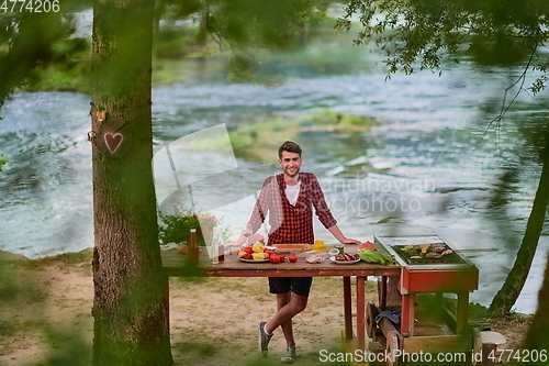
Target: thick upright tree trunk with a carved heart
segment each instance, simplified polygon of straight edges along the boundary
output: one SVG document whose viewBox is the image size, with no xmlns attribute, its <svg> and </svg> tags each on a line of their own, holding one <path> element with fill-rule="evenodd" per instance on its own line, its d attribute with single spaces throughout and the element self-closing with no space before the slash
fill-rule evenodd
<svg viewBox="0 0 549 366">
<path fill-rule="evenodd" d="M 153 182 L 154 0 L 96 0 L 93 365 L 172 365 Z"/>
</svg>

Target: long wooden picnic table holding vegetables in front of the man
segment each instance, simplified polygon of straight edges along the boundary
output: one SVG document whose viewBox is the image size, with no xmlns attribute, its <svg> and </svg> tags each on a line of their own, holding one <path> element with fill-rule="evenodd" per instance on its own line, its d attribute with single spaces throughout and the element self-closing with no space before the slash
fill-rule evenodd
<svg viewBox="0 0 549 366">
<path fill-rule="evenodd" d="M 356 245 L 348 245 L 346 249 L 356 252 Z M 205 252 L 205 251 L 204 251 Z M 166 276 L 167 304 L 169 304 L 169 277 L 187 276 L 183 268 L 186 255 L 178 254 L 176 251 L 163 251 L 163 270 Z M 365 262 L 356 264 L 335 264 L 326 259 L 322 264 L 309 264 L 304 257 L 300 257 L 296 263 L 271 264 L 266 263 L 246 263 L 238 260 L 235 254 L 225 255 L 223 264 L 213 265 L 203 253 L 201 257 L 201 269 L 204 276 L 209 277 L 343 277 L 343 300 L 345 313 L 345 334 L 344 341 L 349 345 L 355 337 L 352 331 L 352 296 L 351 277 L 356 277 L 356 313 L 357 313 L 357 350 L 366 347 L 366 303 L 365 303 L 365 281 L 368 276 L 397 276 L 401 273 L 401 266 L 372 265 Z M 266 284 L 266 291 L 268 286 Z M 169 308 L 167 309 L 169 314 Z"/>
</svg>

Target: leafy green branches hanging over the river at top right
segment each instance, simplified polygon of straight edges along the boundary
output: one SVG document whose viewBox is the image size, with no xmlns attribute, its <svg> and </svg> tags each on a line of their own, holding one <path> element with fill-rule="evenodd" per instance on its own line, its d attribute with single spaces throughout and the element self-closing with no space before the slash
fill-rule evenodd
<svg viewBox="0 0 549 366">
<path fill-rule="evenodd" d="M 416 67 L 440 70 L 445 57 L 459 63 L 463 52 L 479 64 L 526 62 L 531 70 L 547 70 L 541 53 L 549 37 L 547 1 L 351 0 L 336 27 L 349 31 L 356 15 L 361 30 L 355 43 L 376 41 L 388 56 L 388 77 Z M 538 92 L 546 82 L 540 77 L 530 89 Z"/>
</svg>

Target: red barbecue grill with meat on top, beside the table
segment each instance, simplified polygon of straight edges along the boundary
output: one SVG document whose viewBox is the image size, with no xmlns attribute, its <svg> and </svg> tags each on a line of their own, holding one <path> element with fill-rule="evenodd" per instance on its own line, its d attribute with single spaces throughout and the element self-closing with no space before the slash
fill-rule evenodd
<svg viewBox="0 0 549 366">
<path fill-rule="evenodd" d="M 469 292 L 479 287 L 479 269 L 462 253 L 438 235 L 374 236 L 374 242 L 394 256 L 401 273 L 382 277 L 379 307 L 367 307 L 371 347 L 412 354 L 471 353 L 482 346 L 478 331 L 468 328 Z M 448 300 L 449 293 L 453 299 Z M 428 297 L 436 310 L 422 311 L 421 304 Z M 386 318 L 376 322 L 385 310 L 400 310 L 400 324 Z"/>
</svg>

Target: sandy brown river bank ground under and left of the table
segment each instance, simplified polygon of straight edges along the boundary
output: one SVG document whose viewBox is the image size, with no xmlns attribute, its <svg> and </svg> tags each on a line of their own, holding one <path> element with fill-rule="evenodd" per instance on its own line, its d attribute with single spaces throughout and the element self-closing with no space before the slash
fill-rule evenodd
<svg viewBox="0 0 549 366">
<path fill-rule="evenodd" d="M 42 259 L 0 252 L 0 364 L 91 365 L 93 281 L 91 249 Z M 340 352 L 343 304 L 339 278 L 315 279 L 307 309 L 295 319 L 301 365 L 318 364 L 320 351 Z M 322 295 L 322 296 L 320 296 Z M 367 300 L 376 301 L 374 284 Z M 273 311 L 261 278 L 171 279 L 170 329 L 176 365 L 278 365 L 280 332 L 264 359 L 256 324 Z M 490 321 L 516 348 L 530 315 Z"/>
</svg>

